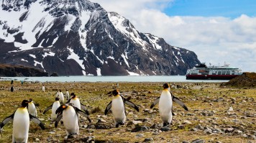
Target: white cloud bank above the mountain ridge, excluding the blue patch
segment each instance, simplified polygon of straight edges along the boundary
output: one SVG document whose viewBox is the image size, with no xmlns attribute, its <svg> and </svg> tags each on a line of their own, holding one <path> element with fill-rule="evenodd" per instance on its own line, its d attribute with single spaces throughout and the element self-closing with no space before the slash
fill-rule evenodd
<svg viewBox="0 0 256 143">
<path fill-rule="evenodd" d="M 168 44 L 196 52 L 201 62 L 256 72 L 256 17 L 170 17 L 173 0 L 91 0 L 129 19 L 140 32 L 163 37 Z M 182 9 L 180 9 L 182 10 Z"/>
</svg>

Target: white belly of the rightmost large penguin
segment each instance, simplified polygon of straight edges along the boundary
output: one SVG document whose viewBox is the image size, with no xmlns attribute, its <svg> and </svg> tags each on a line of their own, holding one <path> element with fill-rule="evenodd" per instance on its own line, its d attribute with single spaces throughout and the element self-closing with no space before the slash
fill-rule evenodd
<svg viewBox="0 0 256 143">
<path fill-rule="evenodd" d="M 160 117 L 165 123 L 170 123 L 173 119 L 172 115 L 172 96 L 169 91 L 163 91 L 159 101 Z"/>
</svg>

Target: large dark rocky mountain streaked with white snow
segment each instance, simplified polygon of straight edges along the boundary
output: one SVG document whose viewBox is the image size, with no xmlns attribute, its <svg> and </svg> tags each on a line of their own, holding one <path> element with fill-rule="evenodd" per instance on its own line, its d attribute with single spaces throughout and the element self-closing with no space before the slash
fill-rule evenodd
<svg viewBox="0 0 256 143">
<path fill-rule="evenodd" d="M 58 75 L 185 75 L 192 51 L 87 0 L 3 0 L 0 63 Z"/>
</svg>

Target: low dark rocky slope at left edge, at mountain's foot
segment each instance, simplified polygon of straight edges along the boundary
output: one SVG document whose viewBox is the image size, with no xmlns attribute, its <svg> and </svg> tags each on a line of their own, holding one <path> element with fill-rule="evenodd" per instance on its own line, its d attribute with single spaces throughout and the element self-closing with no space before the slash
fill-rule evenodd
<svg viewBox="0 0 256 143">
<path fill-rule="evenodd" d="M 0 76 L 16 77 L 16 76 L 48 76 L 42 70 L 35 68 L 24 67 L 22 65 L 5 65 L 0 64 Z"/>
</svg>

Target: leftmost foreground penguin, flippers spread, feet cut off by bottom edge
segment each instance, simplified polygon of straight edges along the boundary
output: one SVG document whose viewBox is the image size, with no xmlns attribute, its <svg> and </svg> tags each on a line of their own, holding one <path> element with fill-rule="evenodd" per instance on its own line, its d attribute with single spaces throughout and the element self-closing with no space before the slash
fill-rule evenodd
<svg viewBox="0 0 256 143">
<path fill-rule="evenodd" d="M 22 106 L 20 106 L 14 114 L 11 116 L 7 116 L 3 121 L 0 123 L 0 130 L 1 128 L 7 124 L 9 121 L 13 121 L 13 132 L 12 132 L 12 142 L 26 142 L 29 137 L 29 121 L 34 121 L 38 124 L 41 129 L 45 129 L 44 124 L 37 119 L 37 117 L 32 116 L 27 111 L 29 101 L 24 100 L 22 101 Z"/>
</svg>

